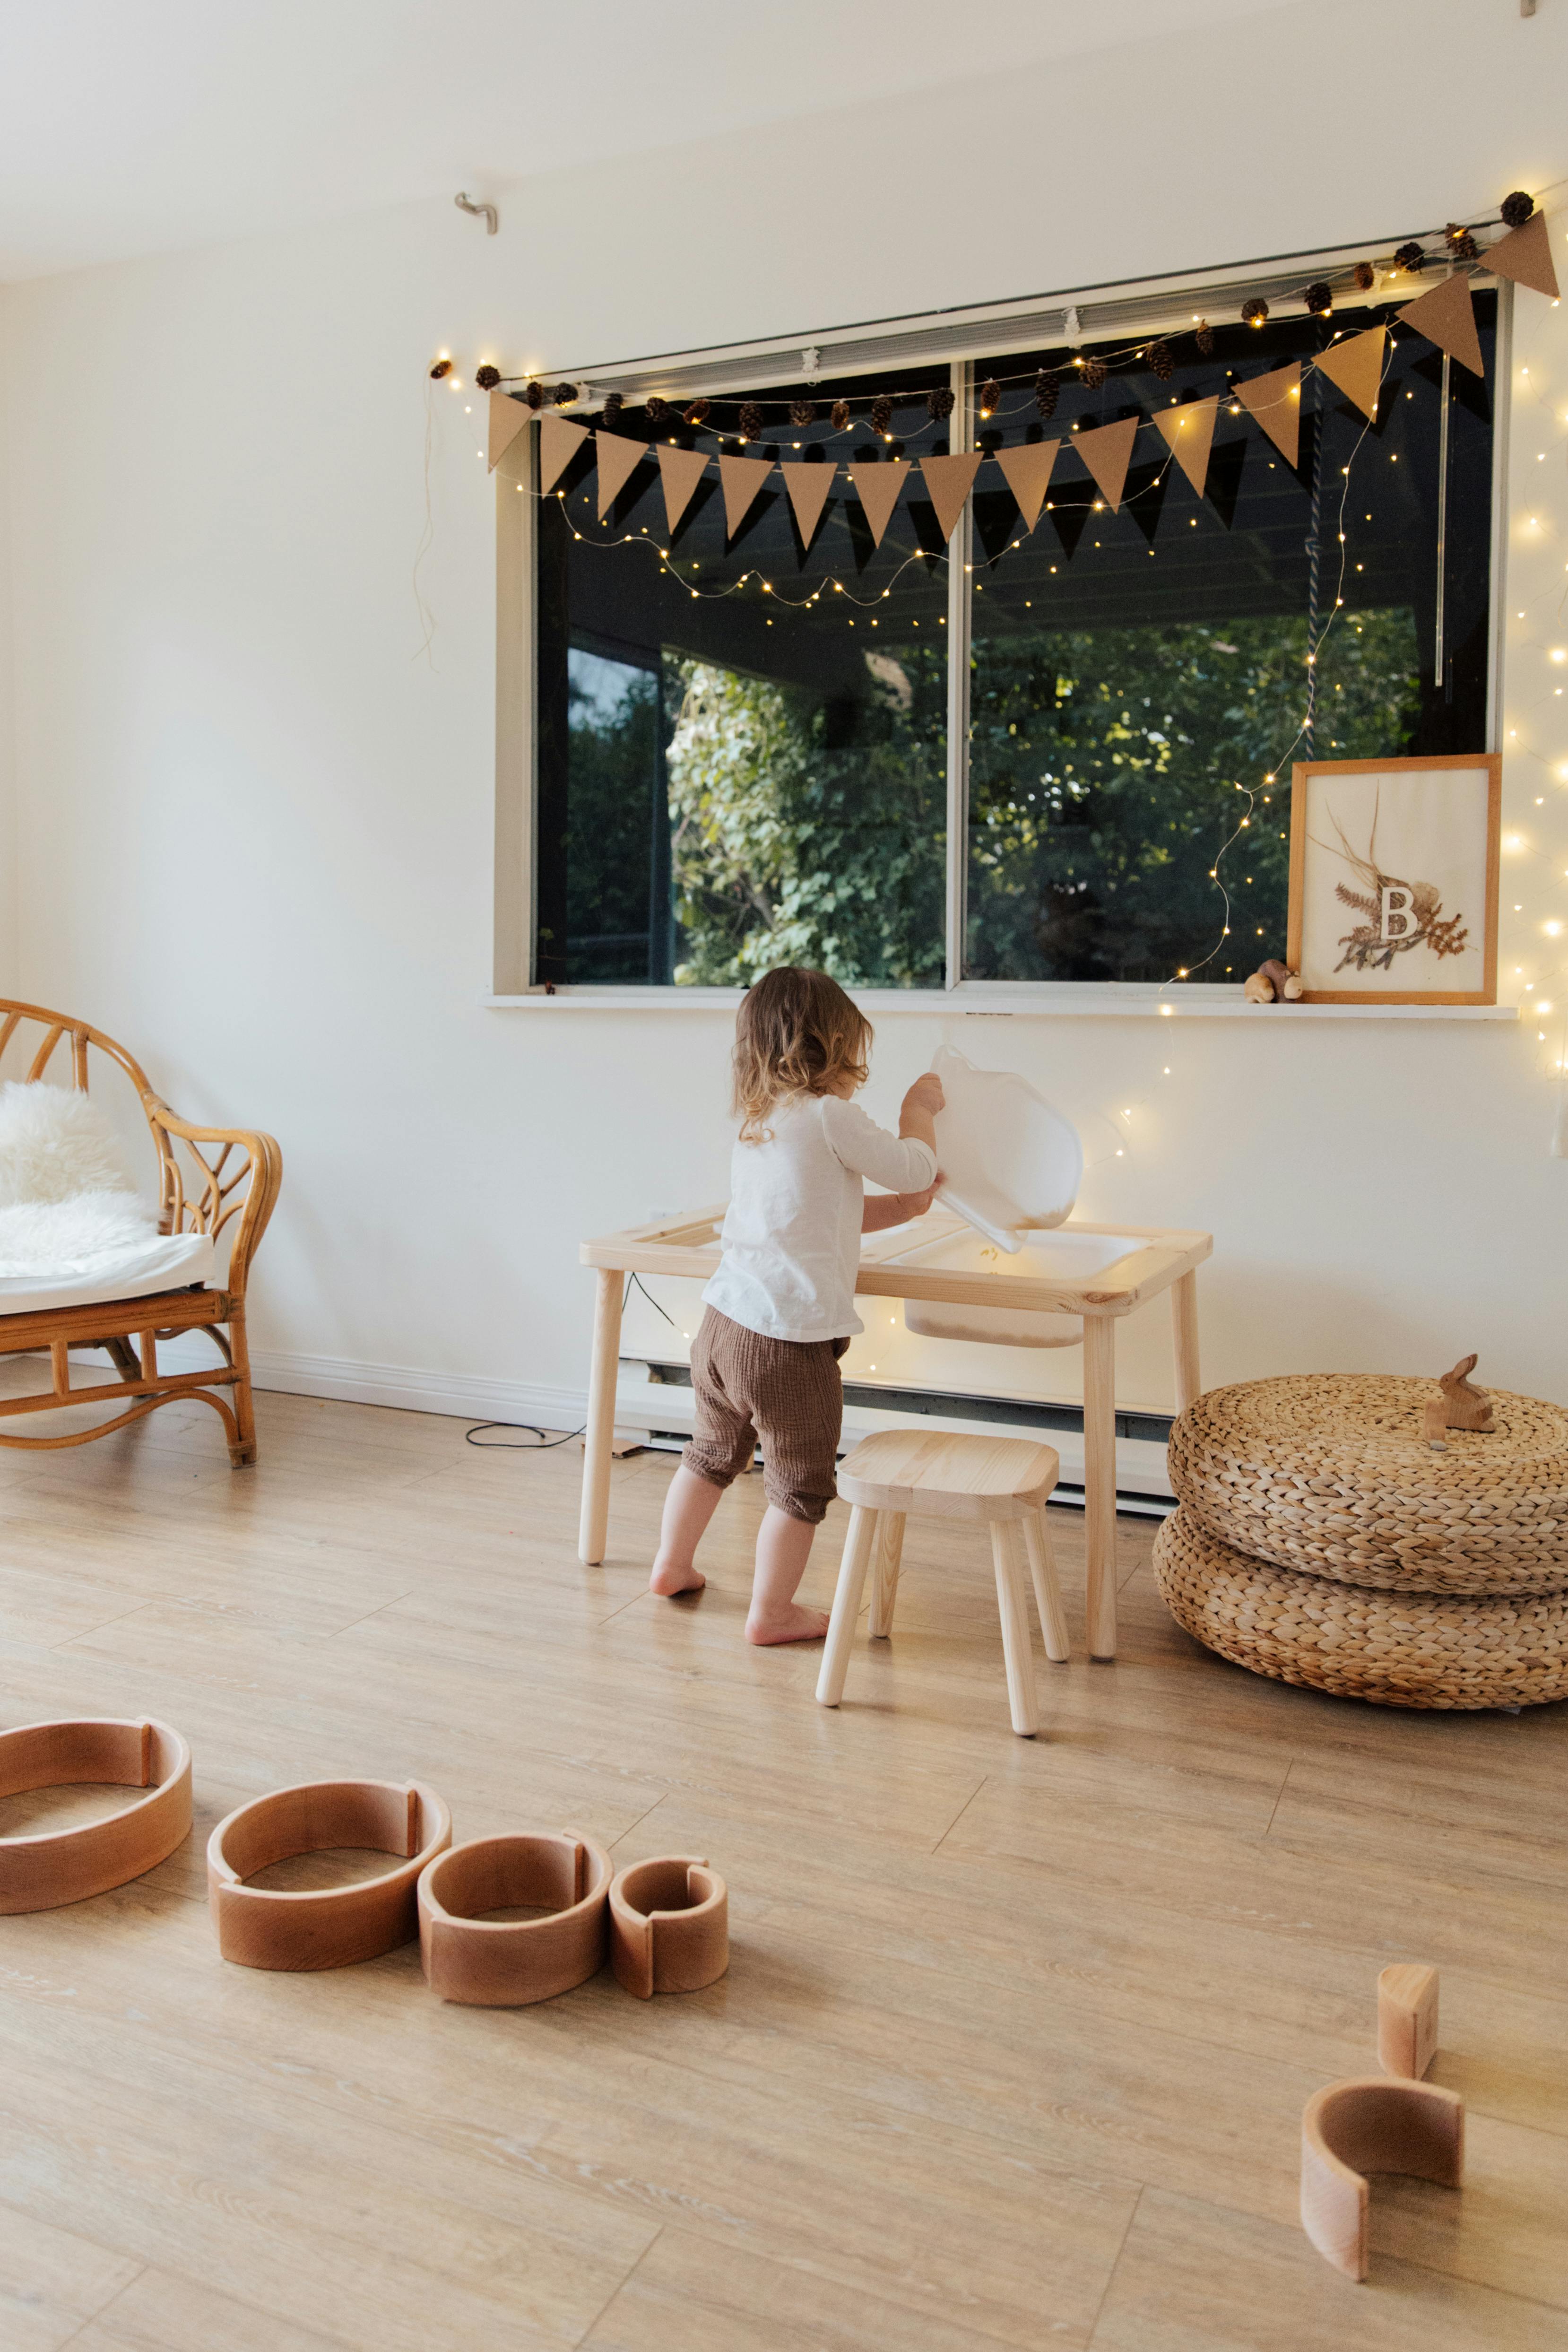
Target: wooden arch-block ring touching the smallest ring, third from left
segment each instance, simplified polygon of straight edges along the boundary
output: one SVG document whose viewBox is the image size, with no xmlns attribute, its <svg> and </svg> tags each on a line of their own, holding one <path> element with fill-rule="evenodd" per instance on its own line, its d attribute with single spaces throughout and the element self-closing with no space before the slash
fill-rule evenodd
<svg viewBox="0 0 1568 2352">
<path fill-rule="evenodd" d="M 477 2009 L 522 2009 L 588 1983 L 609 1959 L 609 1853 L 559 1837 L 470 1837 L 418 1882 L 418 1959 L 430 1992 Z M 545 1919 L 475 1912 L 548 1903 Z"/>
</svg>

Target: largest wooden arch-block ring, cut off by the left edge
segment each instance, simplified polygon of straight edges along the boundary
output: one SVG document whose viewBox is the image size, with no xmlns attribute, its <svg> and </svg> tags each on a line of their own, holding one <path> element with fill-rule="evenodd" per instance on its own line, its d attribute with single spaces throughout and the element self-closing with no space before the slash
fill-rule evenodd
<svg viewBox="0 0 1568 2352">
<path fill-rule="evenodd" d="M 56 1910 L 139 1879 L 190 1835 L 190 1748 L 150 1715 L 19 1724 L 0 1731 L 0 1797 L 113 1780 L 143 1788 L 122 1811 L 78 1830 L 0 1837 L 0 1912 Z"/>
</svg>

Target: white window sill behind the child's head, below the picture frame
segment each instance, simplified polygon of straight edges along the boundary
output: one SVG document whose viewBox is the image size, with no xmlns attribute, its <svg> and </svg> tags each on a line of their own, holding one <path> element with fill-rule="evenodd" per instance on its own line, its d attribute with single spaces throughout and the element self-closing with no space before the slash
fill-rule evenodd
<svg viewBox="0 0 1568 2352">
<path fill-rule="evenodd" d="M 576 1014 L 733 1014 L 738 988 L 559 988 L 545 995 L 534 988 L 517 997 L 487 995 L 480 1002 L 496 1011 L 576 1011 Z M 856 1004 L 877 1021 L 891 1014 L 922 1018 L 1032 1016 L 1067 1018 L 1110 1016 L 1119 1021 L 1519 1021 L 1516 1004 L 1248 1004 L 1239 988 L 1187 985 L 1171 995 L 1157 988 L 1131 988 L 1117 981 L 1037 981 L 1032 985 L 994 985 L 969 981 L 964 988 L 851 988 Z"/>
</svg>

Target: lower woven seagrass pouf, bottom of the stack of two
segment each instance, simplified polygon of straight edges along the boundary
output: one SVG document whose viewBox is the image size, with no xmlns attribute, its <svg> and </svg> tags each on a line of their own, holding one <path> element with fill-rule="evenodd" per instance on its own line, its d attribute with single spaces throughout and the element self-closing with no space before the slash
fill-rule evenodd
<svg viewBox="0 0 1568 2352">
<path fill-rule="evenodd" d="M 1380 1708 L 1537 1708 L 1568 1698 L 1568 1592 L 1389 1592 L 1253 1559 L 1182 1503 L 1154 1538 L 1166 1609 L 1274 1682 Z"/>
</svg>

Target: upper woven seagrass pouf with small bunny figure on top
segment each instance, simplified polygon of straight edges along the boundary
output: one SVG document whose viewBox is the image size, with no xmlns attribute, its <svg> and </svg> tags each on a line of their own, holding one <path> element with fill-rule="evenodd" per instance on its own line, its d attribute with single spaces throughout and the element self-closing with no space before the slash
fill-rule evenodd
<svg viewBox="0 0 1568 2352">
<path fill-rule="evenodd" d="M 1422 1437 L 1432 1381 L 1291 1374 L 1211 1388 L 1171 1430 L 1208 1534 L 1279 1569 L 1387 1592 L 1568 1588 L 1568 1411 L 1488 1390 L 1495 1430 Z"/>
</svg>

